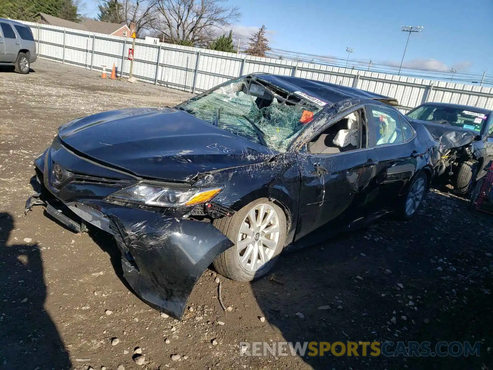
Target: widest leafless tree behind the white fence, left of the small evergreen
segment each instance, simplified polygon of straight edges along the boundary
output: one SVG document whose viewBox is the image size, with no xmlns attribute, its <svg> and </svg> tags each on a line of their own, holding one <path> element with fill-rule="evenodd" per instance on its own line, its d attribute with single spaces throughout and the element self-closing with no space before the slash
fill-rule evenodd
<svg viewBox="0 0 493 370">
<path fill-rule="evenodd" d="M 157 0 L 162 16 L 159 33 L 173 43 L 206 46 L 217 32 L 241 17 L 227 0 Z"/>
</svg>

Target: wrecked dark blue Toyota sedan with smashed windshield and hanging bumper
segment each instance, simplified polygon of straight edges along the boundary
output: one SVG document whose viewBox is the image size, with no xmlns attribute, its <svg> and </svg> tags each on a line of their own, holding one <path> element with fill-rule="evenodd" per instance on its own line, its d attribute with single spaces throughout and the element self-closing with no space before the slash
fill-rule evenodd
<svg viewBox="0 0 493 370">
<path fill-rule="evenodd" d="M 325 237 L 417 211 L 437 145 L 397 102 L 273 74 L 175 108 L 76 118 L 35 159 L 28 200 L 75 231 L 112 234 L 137 295 L 176 318 L 211 264 L 251 281 L 320 226 Z"/>
</svg>

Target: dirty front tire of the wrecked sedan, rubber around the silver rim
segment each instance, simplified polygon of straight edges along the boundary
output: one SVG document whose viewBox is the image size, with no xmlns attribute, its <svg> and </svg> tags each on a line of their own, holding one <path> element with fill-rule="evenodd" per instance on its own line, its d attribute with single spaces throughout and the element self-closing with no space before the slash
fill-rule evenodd
<svg viewBox="0 0 493 370">
<path fill-rule="evenodd" d="M 262 203 L 270 205 L 276 211 L 276 214 L 279 219 L 279 226 L 280 226 L 279 238 L 278 238 L 277 246 L 274 250 L 273 257 L 258 270 L 249 271 L 240 262 L 236 241 L 238 240 L 240 227 L 242 226 L 242 223 L 245 221 L 248 212 L 251 209 L 253 209 L 255 206 L 260 205 Z M 214 220 L 213 224 L 219 231 L 221 231 L 224 235 L 226 235 L 230 240 L 232 240 L 235 243 L 233 247 L 227 249 L 221 255 L 217 256 L 213 262 L 214 268 L 217 271 L 217 273 L 231 280 L 247 282 L 265 275 L 272 269 L 277 259 L 279 258 L 279 255 L 282 252 L 282 248 L 284 247 L 284 241 L 286 239 L 286 228 L 287 228 L 286 216 L 282 211 L 281 207 L 271 202 L 267 198 L 257 199 L 247 204 L 240 211 L 236 212 L 232 217 L 223 217 L 221 219 L 216 219 Z"/>
</svg>

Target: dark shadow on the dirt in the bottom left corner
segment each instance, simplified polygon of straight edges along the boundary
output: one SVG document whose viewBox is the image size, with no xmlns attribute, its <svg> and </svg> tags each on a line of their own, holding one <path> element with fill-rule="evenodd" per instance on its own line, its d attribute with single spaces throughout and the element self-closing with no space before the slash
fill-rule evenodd
<svg viewBox="0 0 493 370">
<path fill-rule="evenodd" d="M 0 369 L 70 369 L 55 324 L 44 308 L 46 285 L 36 244 L 7 245 L 14 228 L 0 213 Z"/>
</svg>

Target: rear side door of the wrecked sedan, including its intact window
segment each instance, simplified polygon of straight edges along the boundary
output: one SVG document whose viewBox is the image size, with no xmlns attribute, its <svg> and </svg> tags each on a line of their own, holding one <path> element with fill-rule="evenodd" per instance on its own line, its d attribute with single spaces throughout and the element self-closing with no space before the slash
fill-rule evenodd
<svg viewBox="0 0 493 370">
<path fill-rule="evenodd" d="M 381 105 L 367 105 L 366 111 L 370 146 L 378 160 L 375 176 L 379 194 L 377 207 L 372 210 L 377 212 L 395 207 L 425 153 L 419 151 L 414 129 L 397 111 Z"/>
</svg>

